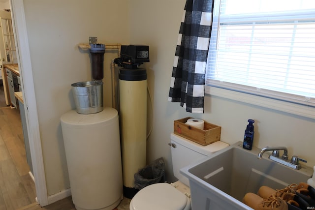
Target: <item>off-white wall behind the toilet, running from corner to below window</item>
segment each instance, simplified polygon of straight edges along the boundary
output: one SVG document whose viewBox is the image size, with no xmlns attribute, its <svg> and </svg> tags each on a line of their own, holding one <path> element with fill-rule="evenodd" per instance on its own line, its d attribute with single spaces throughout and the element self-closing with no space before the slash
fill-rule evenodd
<svg viewBox="0 0 315 210">
<path fill-rule="evenodd" d="M 173 131 L 174 120 L 191 116 L 220 125 L 221 140 L 229 144 L 243 141 L 247 120 L 254 119 L 254 146 L 286 146 L 289 156 L 298 155 L 308 160 L 308 166 L 315 165 L 315 120 L 210 95 L 205 97 L 204 114 L 187 113 L 179 103 L 167 101 L 185 2 L 132 0 L 130 4 L 130 42 L 150 45 L 150 63 L 146 67 L 154 97 L 155 121 L 148 140 L 148 161 L 164 157 L 168 178 L 174 180 L 170 147 L 167 145 L 169 135 Z"/>
</svg>

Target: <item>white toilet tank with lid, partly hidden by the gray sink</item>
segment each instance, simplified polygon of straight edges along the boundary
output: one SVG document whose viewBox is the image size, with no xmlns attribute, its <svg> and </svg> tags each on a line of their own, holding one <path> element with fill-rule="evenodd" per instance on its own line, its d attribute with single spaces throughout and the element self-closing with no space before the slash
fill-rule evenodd
<svg viewBox="0 0 315 210">
<path fill-rule="evenodd" d="M 228 146 L 227 143 L 221 141 L 202 146 L 174 133 L 171 133 L 171 143 L 174 176 L 187 186 L 189 186 L 189 180 L 180 174 L 182 168 Z"/>
</svg>

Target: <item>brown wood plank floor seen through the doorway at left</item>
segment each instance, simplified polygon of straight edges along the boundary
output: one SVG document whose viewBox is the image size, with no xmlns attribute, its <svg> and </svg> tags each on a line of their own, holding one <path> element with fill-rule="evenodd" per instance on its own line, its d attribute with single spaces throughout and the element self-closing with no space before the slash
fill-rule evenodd
<svg viewBox="0 0 315 210">
<path fill-rule="evenodd" d="M 0 210 L 17 210 L 35 202 L 19 110 L 0 108 Z"/>
</svg>

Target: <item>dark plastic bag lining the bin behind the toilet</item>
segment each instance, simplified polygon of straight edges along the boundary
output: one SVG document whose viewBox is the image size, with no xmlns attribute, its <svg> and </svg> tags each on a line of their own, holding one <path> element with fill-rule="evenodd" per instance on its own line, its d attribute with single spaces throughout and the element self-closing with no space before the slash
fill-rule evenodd
<svg viewBox="0 0 315 210">
<path fill-rule="evenodd" d="M 142 189 L 150 184 L 165 182 L 165 163 L 162 157 L 156 159 L 134 174 L 134 188 Z"/>
</svg>

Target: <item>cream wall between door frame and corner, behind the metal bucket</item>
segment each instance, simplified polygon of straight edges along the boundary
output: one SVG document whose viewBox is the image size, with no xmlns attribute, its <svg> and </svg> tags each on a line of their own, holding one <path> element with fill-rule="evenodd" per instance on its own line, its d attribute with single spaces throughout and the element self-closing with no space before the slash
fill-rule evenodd
<svg viewBox="0 0 315 210">
<path fill-rule="evenodd" d="M 48 195 L 69 188 L 60 117 L 75 109 L 71 84 L 91 80 L 88 51 L 79 43 L 129 43 L 128 0 L 25 0 L 32 72 Z M 110 60 L 105 53 L 104 101 L 111 106 Z M 87 140 L 88 141 L 88 140 Z"/>
</svg>

